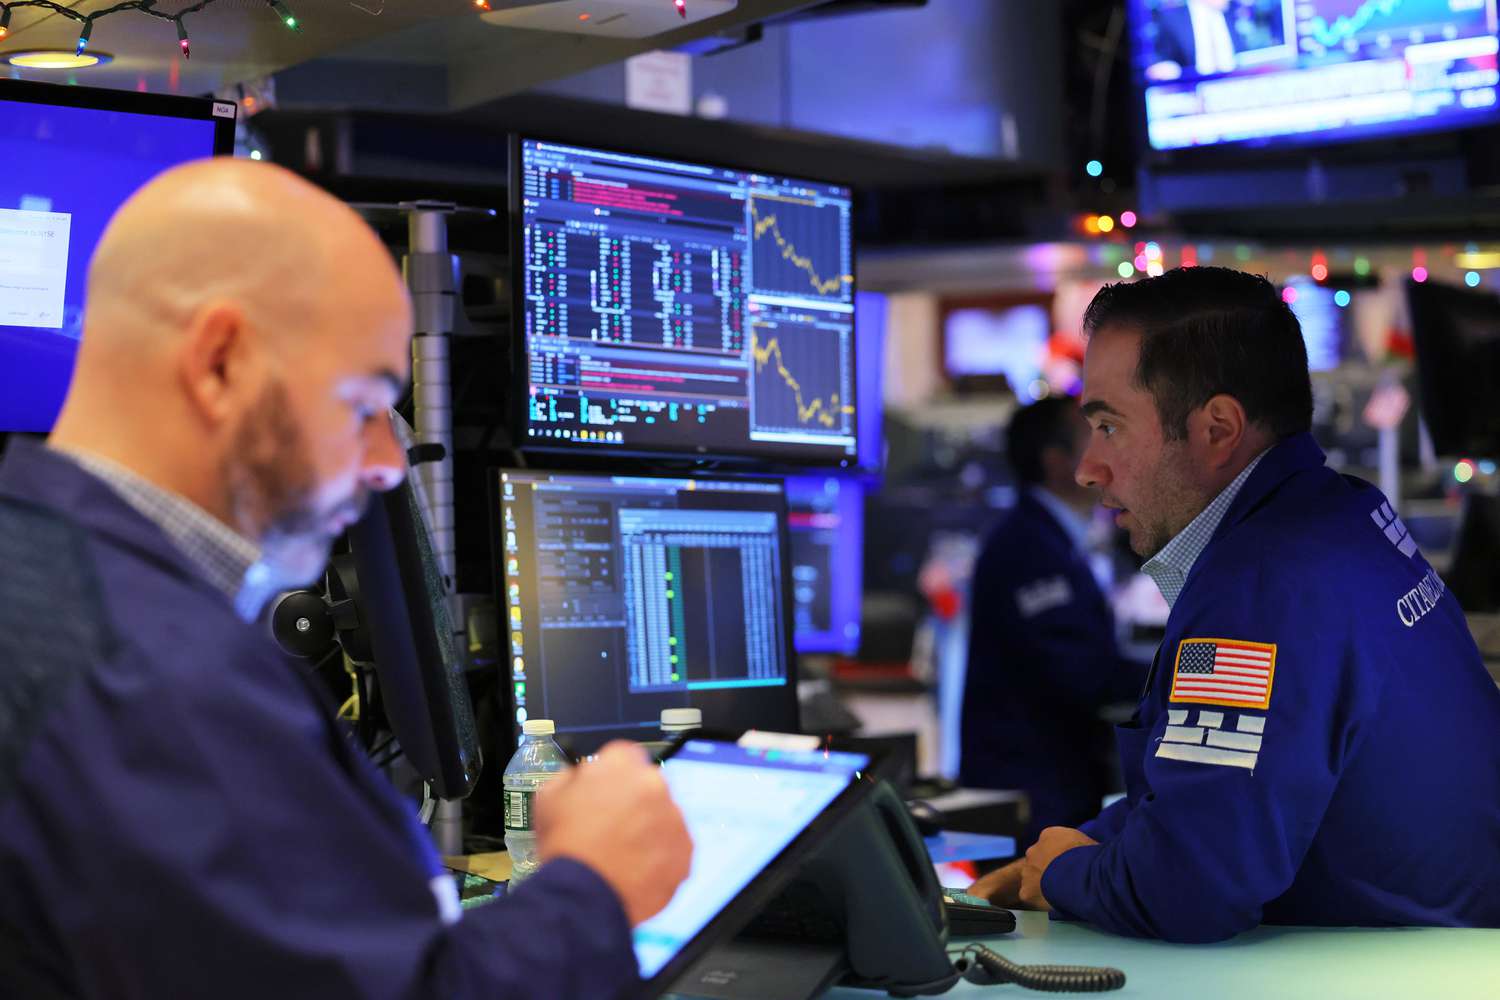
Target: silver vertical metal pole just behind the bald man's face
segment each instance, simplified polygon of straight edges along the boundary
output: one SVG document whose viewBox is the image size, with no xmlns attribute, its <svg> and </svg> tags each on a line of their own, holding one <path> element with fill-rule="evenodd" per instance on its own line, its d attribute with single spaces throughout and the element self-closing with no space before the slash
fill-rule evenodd
<svg viewBox="0 0 1500 1000">
<path fill-rule="evenodd" d="M 448 253 L 448 213 L 453 205 L 416 202 L 408 210 L 408 252 L 402 262 L 416 331 L 411 339 L 412 423 L 417 444 L 442 445 L 442 459 L 423 462 L 412 472 L 432 514 L 432 555 L 448 592 L 454 627 L 462 624 L 453 595 L 456 541 L 453 531 L 453 381 L 448 339 L 456 304 L 456 259 Z M 464 853 L 464 807 L 438 802 L 432 837 L 444 855 Z"/>
</svg>

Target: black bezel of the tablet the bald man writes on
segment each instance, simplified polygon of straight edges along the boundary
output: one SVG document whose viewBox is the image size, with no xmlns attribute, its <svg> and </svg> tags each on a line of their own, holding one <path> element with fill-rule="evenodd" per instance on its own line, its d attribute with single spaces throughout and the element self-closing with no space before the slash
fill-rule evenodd
<svg viewBox="0 0 1500 1000">
<path fill-rule="evenodd" d="M 690 741 L 706 741 L 717 744 L 729 744 L 734 747 L 740 745 L 740 739 L 732 735 L 726 735 L 720 730 L 696 730 L 688 733 L 682 741 L 674 744 L 674 747 L 663 754 L 662 763 L 666 763 L 674 756 L 676 756 L 682 747 Z M 837 750 L 837 748 L 836 748 Z M 708 954 L 714 946 L 724 940 L 734 937 L 734 934 L 744 930 L 750 921 L 756 918 L 782 891 L 786 879 L 796 873 L 796 867 L 807 859 L 813 849 L 822 843 L 844 817 L 848 817 L 855 808 L 858 808 L 876 789 L 879 778 L 876 772 L 879 771 L 882 754 L 870 750 L 856 751 L 840 751 L 840 753 L 858 753 L 866 759 L 866 768 L 855 772 L 854 781 L 850 781 L 843 790 L 834 796 L 834 801 L 824 807 L 824 810 L 813 817 L 813 822 L 802 828 L 802 831 L 792 838 L 792 841 L 782 849 L 782 852 L 772 858 L 765 868 L 756 874 L 744 889 L 741 889 L 735 897 L 714 915 L 698 934 L 692 937 L 682 948 L 668 961 L 651 979 L 642 981 L 646 993 L 645 996 L 660 996 L 669 987 L 674 985 L 678 976 L 693 967 L 705 954 Z M 634 948 L 632 945 L 632 954 Z"/>
</svg>

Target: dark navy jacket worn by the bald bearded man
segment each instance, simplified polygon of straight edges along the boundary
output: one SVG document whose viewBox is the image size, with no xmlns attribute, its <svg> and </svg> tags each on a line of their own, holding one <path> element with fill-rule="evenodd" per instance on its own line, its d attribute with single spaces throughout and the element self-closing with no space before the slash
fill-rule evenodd
<svg viewBox="0 0 1500 1000">
<path fill-rule="evenodd" d="M 444 924 L 411 807 L 306 669 L 69 460 L 0 463 L 0 982 L 16 996 L 622 997 L 556 861 Z M 9 994 L 9 988 L 4 990 Z"/>
</svg>

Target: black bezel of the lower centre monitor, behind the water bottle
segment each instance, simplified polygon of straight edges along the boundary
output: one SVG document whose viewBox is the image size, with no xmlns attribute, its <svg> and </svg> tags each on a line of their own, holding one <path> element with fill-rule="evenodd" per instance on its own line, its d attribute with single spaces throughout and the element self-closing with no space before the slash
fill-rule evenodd
<svg viewBox="0 0 1500 1000">
<path fill-rule="evenodd" d="M 782 603 L 782 648 L 783 657 L 786 658 L 786 699 L 792 708 L 792 718 L 796 721 L 795 729 L 801 730 L 802 712 L 801 703 L 798 702 L 796 685 L 798 685 L 798 658 L 796 646 L 792 633 L 794 628 L 794 607 L 792 607 L 792 537 L 790 528 L 788 525 L 788 505 L 786 505 L 786 483 L 778 477 L 771 475 L 688 475 L 681 472 L 642 472 L 638 469 L 628 472 L 602 472 L 598 469 L 564 469 L 564 468 L 531 468 L 531 466 L 492 466 L 489 471 L 489 492 L 490 492 L 490 564 L 492 564 L 492 580 L 495 586 L 495 609 L 501 616 L 501 648 L 504 649 L 504 657 L 501 666 L 506 678 L 506 723 L 510 729 L 508 747 L 514 747 L 518 735 L 520 732 L 520 723 L 516 721 L 516 685 L 514 678 L 510 673 L 512 652 L 510 652 L 510 630 L 504 627 L 504 609 L 506 604 L 506 547 L 502 540 L 502 525 L 504 525 L 504 489 L 501 486 L 502 475 L 518 474 L 528 477 L 591 477 L 598 480 L 612 478 L 630 478 L 630 480 L 693 480 L 698 483 L 764 483 L 776 487 L 776 496 L 780 498 L 777 507 L 777 535 L 778 546 L 782 552 L 782 586 L 778 600 Z M 531 658 L 528 657 L 528 661 Z M 528 676 L 530 685 L 530 676 Z M 566 736 L 566 733 L 562 733 Z M 654 739 L 657 733 L 652 732 Z"/>
</svg>

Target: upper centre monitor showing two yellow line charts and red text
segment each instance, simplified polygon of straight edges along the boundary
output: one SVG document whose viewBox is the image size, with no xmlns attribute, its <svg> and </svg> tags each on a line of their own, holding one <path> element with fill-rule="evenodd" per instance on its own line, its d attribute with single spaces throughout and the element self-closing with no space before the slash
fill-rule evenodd
<svg viewBox="0 0 1500 1000">
<path fill-rule="evenodd" d="M 518 139 L 519 444 L 852 466 L 852 192 Z"/>
</svg>

